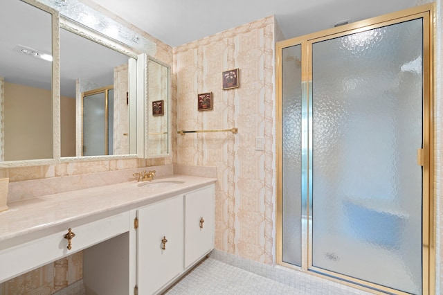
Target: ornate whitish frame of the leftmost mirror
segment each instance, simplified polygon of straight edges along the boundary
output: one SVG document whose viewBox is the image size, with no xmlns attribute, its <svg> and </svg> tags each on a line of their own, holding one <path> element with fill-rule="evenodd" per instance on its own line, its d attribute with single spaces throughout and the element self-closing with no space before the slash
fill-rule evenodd
<svg viewBox="0 0 443 295">
<path fill-rule="evenodd" d="M 51 14 L 52 26 L 52 108 L 53 108 L 53 159 L 1 161 L 0 168 L 55 165 L 60 161 L 60 14 L 37 0 L 21 0 Z M 3 109 L 1 109 L 3 113 Z M 4 141 L 3 134 L 1 136 Z"/>
</svg>

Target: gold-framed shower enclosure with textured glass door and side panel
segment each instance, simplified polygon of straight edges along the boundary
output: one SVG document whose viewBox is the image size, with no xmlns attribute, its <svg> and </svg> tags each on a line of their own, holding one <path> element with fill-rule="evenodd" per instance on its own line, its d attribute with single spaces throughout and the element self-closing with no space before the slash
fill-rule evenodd
<svg viewBox="0 0 443 295">
<path fill-rule="evenodd" d="M 280 264 L 432 292 L 432 8 L 277 44 Z"/>
</svg>

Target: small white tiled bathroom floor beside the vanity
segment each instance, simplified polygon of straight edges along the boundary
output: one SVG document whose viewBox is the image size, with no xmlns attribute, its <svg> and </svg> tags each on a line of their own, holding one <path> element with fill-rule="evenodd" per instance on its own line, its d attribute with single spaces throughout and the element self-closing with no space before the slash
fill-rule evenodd
<svg viewBox="0 0 443 295">
<path fill-rule="evenodd" d="M 305 294 L 289 285 L 208 258 L 195 267 L 167 295 L 183 294 Z"/>
</svg>

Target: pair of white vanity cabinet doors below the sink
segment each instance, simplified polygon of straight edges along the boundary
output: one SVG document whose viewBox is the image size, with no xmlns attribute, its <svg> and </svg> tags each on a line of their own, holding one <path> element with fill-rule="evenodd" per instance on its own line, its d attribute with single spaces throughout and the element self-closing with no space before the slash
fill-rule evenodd
<svg viewBox="0 0 443 295">
<path fill-rule="evenodd" d="M 137 210 L 138 294 L 163 291 L 214 249 L 214 189 L 212 184 Z"/>
</svg>

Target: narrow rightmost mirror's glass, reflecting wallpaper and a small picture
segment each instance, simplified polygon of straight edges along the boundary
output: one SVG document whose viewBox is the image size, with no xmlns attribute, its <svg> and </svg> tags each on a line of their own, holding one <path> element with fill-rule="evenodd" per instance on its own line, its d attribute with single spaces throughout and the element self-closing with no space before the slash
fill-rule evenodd
<svg viewBox="0 0 443 295">
<path fill-rule="evenodd" d="M 147 157 L 165 156 L 170 152 L 170 69 L 147 59 Z"/>
</svg>

